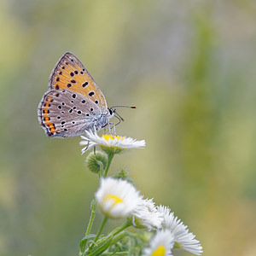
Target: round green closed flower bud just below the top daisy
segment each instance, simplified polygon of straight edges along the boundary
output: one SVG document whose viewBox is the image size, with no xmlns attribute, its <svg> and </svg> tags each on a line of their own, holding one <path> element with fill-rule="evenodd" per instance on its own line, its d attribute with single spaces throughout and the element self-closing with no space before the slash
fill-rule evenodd
<svg viewBox="0 0 256 256">
<path fill-rule="evenodd" d="M 96 151 L 96 153 L 91 152 L 90 154 L 88 154 L 85 160 L 85 165 L 88 167 L 90 172 L 98 173 L 106 168 L 107 162 L 107 154 Z"/>
</svg>

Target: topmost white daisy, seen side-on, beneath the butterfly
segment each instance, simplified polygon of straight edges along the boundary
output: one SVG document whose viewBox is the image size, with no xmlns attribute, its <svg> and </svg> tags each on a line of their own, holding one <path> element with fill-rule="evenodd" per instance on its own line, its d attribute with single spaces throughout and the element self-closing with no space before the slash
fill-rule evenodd
<svg viewBox="0 0 256 256">
<path fill-rule="evenodd" d="M 125 148 L 144 148 L 146 144 L 144 140 L 137 141 L 131 137 L 121 137 L 108 134 L 99 137 L 96 132 L 93 131 L 86 131 L 86 136 L 81 136 L 81 138 L 83 140 L 80 142 L 80 145 L 86 146 L 82 148 L 82 154 L 96 145 L 99 145 L 107 153 L 112 151 L 117 154 Z"/>
</svg>

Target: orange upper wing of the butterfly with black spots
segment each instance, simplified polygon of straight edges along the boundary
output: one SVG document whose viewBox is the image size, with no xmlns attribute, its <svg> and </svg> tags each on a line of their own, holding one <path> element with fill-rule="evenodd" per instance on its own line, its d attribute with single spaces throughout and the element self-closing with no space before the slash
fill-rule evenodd
<svg viewBox="0 0 256 256">
<path fill-rule="evenodd" d="M 102 91 L 79 59 L 67 52 L 55 65 L 49 77 L 49 90 L 73 90 L 95 102 L 103 113 L 108 112 Z"/>
</svg>

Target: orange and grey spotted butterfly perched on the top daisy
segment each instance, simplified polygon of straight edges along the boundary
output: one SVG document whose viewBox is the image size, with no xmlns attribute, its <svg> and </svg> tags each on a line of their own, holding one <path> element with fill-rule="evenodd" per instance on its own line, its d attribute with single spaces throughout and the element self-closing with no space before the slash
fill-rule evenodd
<svg viewBox="0 0 256 256">
<path fill-rule="evenodd" d="M 65 53 L 49 76 L 48 90 L 38 105 L 38 120 L 49 137 L 75 137 L 99 131 L 114 111 L 102 90 L 72 53 Z"/>
</svg>

